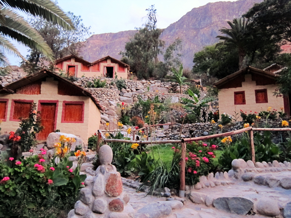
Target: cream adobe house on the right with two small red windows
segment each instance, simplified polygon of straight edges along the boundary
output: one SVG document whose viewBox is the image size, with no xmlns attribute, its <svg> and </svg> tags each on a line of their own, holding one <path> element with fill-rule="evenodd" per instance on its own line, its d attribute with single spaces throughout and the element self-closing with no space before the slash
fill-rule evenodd
<svg viewBox="0 0 291 218">
<path fill-rule="evenodd" d="M 260 70 L 248 66 L 214 83 L 219 90 L 219 113 L 234 115 L 240 110 L 259 113 L 272 107 L 272 110 L 277 111 L 284 108 L 290 116 L 289 96 L 274 96 L 275 90 L 278 89 L 276 77 L 278 75 L 272 68 Z"/>
</svg>

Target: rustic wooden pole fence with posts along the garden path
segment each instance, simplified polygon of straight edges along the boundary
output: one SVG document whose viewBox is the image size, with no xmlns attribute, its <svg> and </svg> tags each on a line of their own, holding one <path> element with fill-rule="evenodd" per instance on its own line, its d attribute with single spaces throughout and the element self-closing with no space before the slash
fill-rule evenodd
<svg viewBox="0 0 291 218">
<path fill-rule="evenodd" d="M 172 124 L 168 124 L 172 125 Z M 155 125 L 157 126 L 157 125 Z M 149 127 L 149 126 L 147 126 Z M 143 128 L 141 128 L 143 129 Z M 134 130 L 139 131 L 140 129 Z M 120 130 L 119 130 L 120 131 Z M 102 131 L 98 130 L 98 140 L 97 140 L 97 152 L 100 147 L 100 141 L 103 140 L 106 144 L 107 142 L 124 142 L 124 143 L 138 143 L 138 144 L 167 144 L 167 143 L 181 143 L 181 168 L 180 168 L 180 187 L 179 187 L 179 197 L 185 197 L 185 157 L 186 157 L 186 142 L 192 142 L 192 141 L 200 141 L 200 140 L 208 140 L 208 139 L 214 139 L 214 138 L 221 138 L 221 137 L 227 137 L 232 135 L 237 135 L 243 132 L 250 132 L 250 141 L 251 141 L 251 155 L 252 155 L 252 161 L 253 163 L 256 162 L 255 159 L 255 145 L 254 145 L 254 131 L 291 131 L 291 128 L 253 128 L 253 127 L 247 127 L 231 132 L 225 132 L 225 133 L 219 133 L 209 136 L 201 136 L 201 137 L 195 137 L 195 138 L 187 138 L 187 139 L 181 139 L 181 140 L 118 140 L 118 139 L 106 139 L 106 137 L 103 136 Z"/>
</svg>

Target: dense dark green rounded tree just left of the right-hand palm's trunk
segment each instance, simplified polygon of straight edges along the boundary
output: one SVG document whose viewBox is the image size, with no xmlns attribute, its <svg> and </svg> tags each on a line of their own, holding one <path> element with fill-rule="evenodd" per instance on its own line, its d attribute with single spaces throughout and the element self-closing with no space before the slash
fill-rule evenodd
<svg viewBox="0 0 291 218">
<path fill-rule="evenodd" d="M 228 50 L 225 45 L 204 47 L 194 54 L 192 73 L 224 78 L 239 69 L 238 51 Z"/>
</svg>

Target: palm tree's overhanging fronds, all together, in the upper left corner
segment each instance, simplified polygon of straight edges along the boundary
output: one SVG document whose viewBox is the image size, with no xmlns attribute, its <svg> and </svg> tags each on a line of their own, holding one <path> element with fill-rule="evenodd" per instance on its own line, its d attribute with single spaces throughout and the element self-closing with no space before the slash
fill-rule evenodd
<svg viewBox="0 0 291 218">
<path fill-rule="evenodd" d="M 22 16 L 16 13 L 17 11 L 44 18 L 66 30 L 74 30 L 70 18 L 51 0 L 0 0 L 0 64 L 9 63 L 5 53 L 24 59 L 9 39 L 15 39 L 42 53 L 49 61 L 54 61 L 47 43 Z"/>
</svg>

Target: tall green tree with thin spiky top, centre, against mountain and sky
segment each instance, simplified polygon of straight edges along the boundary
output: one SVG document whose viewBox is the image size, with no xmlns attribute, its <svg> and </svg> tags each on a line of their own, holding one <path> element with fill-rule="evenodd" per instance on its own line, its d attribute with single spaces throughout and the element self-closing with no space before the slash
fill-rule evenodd
<svg viewBox="0 0 291 218">
<path fill-rule="evenodd" d="M 158 62 L 158 55 L 164 42 L 159 39 L 162 30 L 156 27 L 156 9 L 152 5 L 146 9 L 147 22 L 144 28 L 140 28 L 137 33 L 125 45 L 125 52 L 121 52 L 123 60 L 128 60 L 132 72 L 138 78 L 148 78 L 152 76 L 155 64 Z"/>
</svg>

